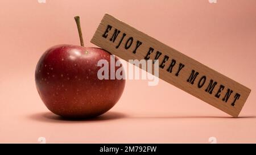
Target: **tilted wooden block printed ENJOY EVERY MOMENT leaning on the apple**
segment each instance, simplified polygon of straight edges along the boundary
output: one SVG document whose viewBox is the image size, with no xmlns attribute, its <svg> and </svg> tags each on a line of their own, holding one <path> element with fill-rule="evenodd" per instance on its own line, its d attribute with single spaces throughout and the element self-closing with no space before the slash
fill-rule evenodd
<svg viewBox="0 0 256 155">
<path fill-rule="evenodd" d="M 159 56 L 159 78 L 233 117 L 238 117 L 251 91 L 108 14 L 91 43 L 126 61 L 155 60 Z"/>
</svg>

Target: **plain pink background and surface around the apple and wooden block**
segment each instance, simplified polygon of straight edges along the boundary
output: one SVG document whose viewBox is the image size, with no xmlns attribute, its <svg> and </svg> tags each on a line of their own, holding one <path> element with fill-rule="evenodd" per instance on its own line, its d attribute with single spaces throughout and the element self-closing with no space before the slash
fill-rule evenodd
<svg viewBox="0 0 256 155">
<path fill-rule="evenodd" d="M 0 143 L 256 143 L 256 1 L 0 1 Z M 36 62 L 56 44 L 85 45 L 110 15 L 242 83 L 251 94 L 234 119 L 160 80 L 128 80 L 93 120 L 61 120 L 35 88 Z"/>
</svg>

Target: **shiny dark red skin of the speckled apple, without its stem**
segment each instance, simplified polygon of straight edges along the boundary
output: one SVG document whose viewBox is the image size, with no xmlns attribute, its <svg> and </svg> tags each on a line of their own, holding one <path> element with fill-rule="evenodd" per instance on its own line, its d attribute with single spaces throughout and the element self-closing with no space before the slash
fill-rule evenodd
<svg viewBox="0 0 256 155">
<path fill-rule="evenodd" d="M 44 52 L 35 82 L 46 107 L 64 118 L 93 118 L 110 110 L 125 88 L 125 79 L 97 77 L 98 60 L 107 60 L 112 72 L 110 55 L 101 48 L 76 45 L 56 45 Z"/>
</svg>

